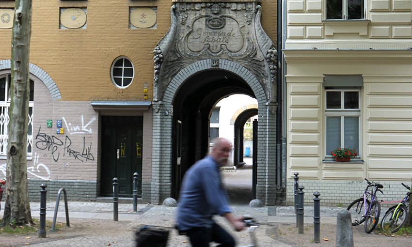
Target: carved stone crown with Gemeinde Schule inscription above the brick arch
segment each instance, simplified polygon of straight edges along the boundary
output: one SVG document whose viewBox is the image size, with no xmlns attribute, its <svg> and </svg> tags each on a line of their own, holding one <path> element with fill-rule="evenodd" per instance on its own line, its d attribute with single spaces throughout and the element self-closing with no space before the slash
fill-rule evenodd
<svg viewBox="0 0 412 247">
<path fill-rule="evenodd" d="M 251 2 L 175 2 L 169 31 L 154 50 L 154 101 L 160 101 L 173 77 L 191 63 L 227 59 L 250 70 L 275 102 L 276 57 Z"/>
</svg>

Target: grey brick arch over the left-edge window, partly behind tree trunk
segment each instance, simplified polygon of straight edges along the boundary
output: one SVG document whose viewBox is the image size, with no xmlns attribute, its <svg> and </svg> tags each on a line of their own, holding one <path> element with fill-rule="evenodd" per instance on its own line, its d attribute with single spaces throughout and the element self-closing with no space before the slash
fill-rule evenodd
<svg viewBox="0 0 412 247">
<path fill-rule="evenodd" d="M 51 95 L 53 100 L 58 100 L 62 98 L 59 88 L 57 87 L 54 80 L 39 66 L 30 63 L 30 74 L 39 78 L 48 88 L 48 92 Z M 2 69 L 11 69 L 12 63 L 10 59 L 0 60 L 0 70 Z"/>
</svg>

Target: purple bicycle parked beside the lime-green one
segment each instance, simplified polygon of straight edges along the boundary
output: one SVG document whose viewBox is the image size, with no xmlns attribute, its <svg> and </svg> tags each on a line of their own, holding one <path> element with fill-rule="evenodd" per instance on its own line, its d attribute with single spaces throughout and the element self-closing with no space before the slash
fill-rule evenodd
<svg viewBox="0 0 412 247">
<path fill-rule="evenodd" d="M 380 202 L 378 201 L 376 193 L 379 191 L 383 194 L 382 190 L 380 190 L 383 188 L 383 185 L 375 182 L 369 182 L 366 178 L 365 181 L 367 186 L 363 196 L 355 201 L 352 201 L 347 210 L 352 216 L 352 226 L 357 226 L 365 221 L 365 232 L 371 233 L 379 222 Z M 371 191 L 369 191 L 370 187 L 372 187 Z M 375 190 L 373 187 L 375 187 Z"/>
</svg>

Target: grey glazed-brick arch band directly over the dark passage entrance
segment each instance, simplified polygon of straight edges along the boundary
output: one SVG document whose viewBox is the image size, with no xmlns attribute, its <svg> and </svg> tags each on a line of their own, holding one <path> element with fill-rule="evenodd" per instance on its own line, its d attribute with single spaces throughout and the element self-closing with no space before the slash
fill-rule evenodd
<svg viewBox="0 0 412 247">
<path fill-rule="evenodd" d="M 260 85 L 254 74 L 247 68 L 239 65 L 236 62 L 229 60 L 219 59 L 219 66 L 212 67 L 212 60 L 206 59 L 198 62 L 194 62 L 182 69 L 176 76 L 173 77 L 172 81 L 166 88 L 163 96 L 163 101 L 167 104 L 172 104 L 176 92 L 179 90 L 180 86 L 192 75 L 197 74 L 206 70 L 220 69 L 226 70 L 234 73 L 235 75 L 242 78 L 252 89 L 255 98 L 259 103 L 266 102 L 266 95 L 263 87 Z"/>
</svg>

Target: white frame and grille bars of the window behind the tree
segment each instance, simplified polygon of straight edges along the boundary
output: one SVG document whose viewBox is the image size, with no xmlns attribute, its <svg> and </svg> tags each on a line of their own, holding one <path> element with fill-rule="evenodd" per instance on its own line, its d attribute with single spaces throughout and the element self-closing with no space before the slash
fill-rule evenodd
<svg viewBox="0 0 412 247">
<path fill-rule="evenodd" d="M 10 122 L 10 117 L 9 117 L 9 108 L 10 108 L 10 95 L 8 95 L 9 91 L 9 75 L 11 71 L 6 70 L 2 71 L 0 73 L 0 78 L 5 78 L 5 95 L 4 95 L 4 100 L 0 101 L 0 158 L 7 158 L 7 142 L 9 139 L 8 135 L 8 124 Z M 33 79 L 30 79 L 33 81 Z M 10 82 L 11 83 L 11 82 Z M 4 111 L 3 111 L 4 108 Z M 31 146 L 32 151 L 27 152 L 27 158 L 31 159 L 32 158 L 32 153 L 33 153 L 33 116 L 34 116 L 34 101 L 29 101 L 29 110 L 30 108 L 32 109 L 32 115 L 29 115 L 29 121 L 28 125 L 32 125 L 32 134 L 29 135 L 27 134 L 27 147 Z"/>
</svg>

